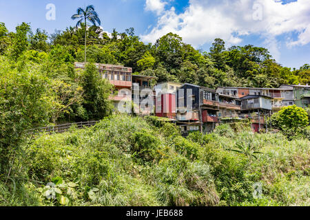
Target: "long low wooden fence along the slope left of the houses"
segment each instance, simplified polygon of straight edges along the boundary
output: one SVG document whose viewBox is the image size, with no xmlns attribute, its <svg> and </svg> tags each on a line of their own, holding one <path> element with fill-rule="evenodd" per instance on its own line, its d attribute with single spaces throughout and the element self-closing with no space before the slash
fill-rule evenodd
<svg viewBox="0 0 310 220">
<path fill-rule="evenodd" d="M 27 135 L 33 135 L 35 133 L 63 133 L 68 131 L 72 126 L 76 126 L 78 129 L 83 129 L 84 127 L 94 126 L 99 121 L 91 121 L 91 122 L 77 122 L 77 123 L 69 123 L 69 124 L 59 124 L 55 126 L 45 126 L 38 129 L 30 129 L 26 132 Z"/>
</svg>

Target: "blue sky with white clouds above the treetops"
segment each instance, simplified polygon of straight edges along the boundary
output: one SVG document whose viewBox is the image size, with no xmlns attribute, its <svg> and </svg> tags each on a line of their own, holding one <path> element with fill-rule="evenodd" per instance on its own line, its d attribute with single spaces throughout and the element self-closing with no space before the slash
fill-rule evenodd
<svg viewBox="0 0 310 220">
<path fill-rule="evenodd" d="M 56 20 L 48 21 L 48 3 Z M 31 23 L 50 34 L 74 25 L 76 8 L 93 4 L 103 29 L 135 28 L 147 42 L 175 32 L 185 43 L 209 51 L 216 38 L 231 45 L 267 47 L 278 63 L 296 67 L 310 63 L 310 0 L 0 0 L 0 22 L 10 31 Z"/>
</svg>

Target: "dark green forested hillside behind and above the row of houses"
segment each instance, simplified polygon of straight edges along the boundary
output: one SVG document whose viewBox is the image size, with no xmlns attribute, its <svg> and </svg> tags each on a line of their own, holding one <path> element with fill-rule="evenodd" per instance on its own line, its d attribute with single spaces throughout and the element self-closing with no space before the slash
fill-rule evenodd
<svg viewBox="0 0 310 220">
<path fill-rule="evenodd" d="M 84 61 L 85 31 L 69 27 L 50 36 L 44 30 L 32 32 L 23 23 L 16 32 L 0 25 L 0 53 L 14 61 L 60 59 L 68 63 Z M 61 54 L 61 58 L 55 57 Z M 87 31 L 87 61 L 121 64 L 138 74 L 156 76 L 158 82 L 176 81 L 205 87 L 278 87 L 280 84 L 310 83 L 310 66 L 282 67 L 266 48 L 254 45 L 225 47 L 215 39 L 209 52 L 195 50 L 176 34 L 169 33 L 154 45 L 143 43 L 134 28 L 114 30 L 112 36 L 99 27 Z M 55 71 L 53 69 L 53 71 Z"/>
</svg>

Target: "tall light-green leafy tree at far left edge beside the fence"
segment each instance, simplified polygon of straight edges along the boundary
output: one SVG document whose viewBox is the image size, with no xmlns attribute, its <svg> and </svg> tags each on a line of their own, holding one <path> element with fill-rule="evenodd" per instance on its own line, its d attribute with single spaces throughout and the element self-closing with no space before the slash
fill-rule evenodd
<svg viewBox="0 0 310 220">
<path fill-rule="evenodd" d="M 39 68 L 19 72 L 0 56 L 0 176 L 10 174 L 27 129 L 48 124 L 50 80 Z"/>
</svg>

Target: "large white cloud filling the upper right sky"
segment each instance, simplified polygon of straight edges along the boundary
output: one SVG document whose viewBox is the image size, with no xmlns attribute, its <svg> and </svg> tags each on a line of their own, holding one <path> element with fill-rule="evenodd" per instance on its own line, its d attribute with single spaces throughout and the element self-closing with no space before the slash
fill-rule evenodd
<svg viewBox="0 0 310 220">
<path fill-rule="evenodd" d="M 273 56 L 280 56 L 276 37 L 281 34 L 298 34 L 298 39 L 286 42 L 289 47 L 310 42 L 310 0 L 287 4 L 278 0 L 189 0 L 189 6 L 180 14 L 173 7 L 165 10 L 165 2 L 160 0 L 146 3 L 146 10 L 158 12 L 156 26 L 141 36 L 146 42 L 154 43 L 174 32 L 194 47 L 216 38 L 231 45 L 242 42 L 242 36 L 259 34 Z"/>
</svg>

